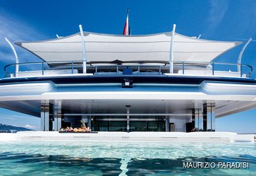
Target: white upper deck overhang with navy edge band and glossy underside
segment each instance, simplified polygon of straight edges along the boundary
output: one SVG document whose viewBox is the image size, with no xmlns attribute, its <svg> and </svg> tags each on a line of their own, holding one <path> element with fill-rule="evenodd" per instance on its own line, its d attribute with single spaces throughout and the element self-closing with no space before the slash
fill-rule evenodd
<svg viewBox="0 0 256 176">
<path fill-rule="evenodd" d="M 123 78 L 133 88 L 122 88 Z M 256 81 L 223 77 L 93 76 L 16 77 L 0 80 L 0 106 L 40 115 L 40 102 L 61 100 L 67 111 L 190 115 L 195 105 L 216 103 L 216 117 L 256 107 Z M 19 107 L 19 108 L 18 108 Z M 123 111 L 123 112 L 122 112 Z"/>
</svg>

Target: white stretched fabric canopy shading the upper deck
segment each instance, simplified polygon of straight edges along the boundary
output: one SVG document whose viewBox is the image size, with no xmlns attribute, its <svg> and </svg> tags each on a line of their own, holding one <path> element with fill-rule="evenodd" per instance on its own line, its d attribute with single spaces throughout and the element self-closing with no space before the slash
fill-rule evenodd
<svg viewBox="0 0 256 176">
<path fill-rule="evenodd" d="M 145 36 L 117 36 L 100 33 L 85 35 L 87 61 L 169 61 L 171 33 Z M 82 61 L 80 33 L 37 42 L 16 42 L 43 61 Z M 195 39 L 175 33 L 174 61 L 213 61 L 241 42 Z"/>
</svg>

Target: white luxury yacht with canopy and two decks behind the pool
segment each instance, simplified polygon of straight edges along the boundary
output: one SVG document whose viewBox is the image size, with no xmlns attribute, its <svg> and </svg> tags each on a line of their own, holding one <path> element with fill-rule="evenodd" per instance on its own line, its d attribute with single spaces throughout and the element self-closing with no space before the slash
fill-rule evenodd
<svg viewBox="0 0 256 176">
<path fill-rule="evenodd" d="M 215 131 L 216 118 L 256 105 L 251 66 L 215 62 L 241 42 L 81 30 L 15 44 L 42 61 L 5 66 L 0 106 L 40 118 L 43 131 L 81 120 L 92 131 Z"/>
</svg>

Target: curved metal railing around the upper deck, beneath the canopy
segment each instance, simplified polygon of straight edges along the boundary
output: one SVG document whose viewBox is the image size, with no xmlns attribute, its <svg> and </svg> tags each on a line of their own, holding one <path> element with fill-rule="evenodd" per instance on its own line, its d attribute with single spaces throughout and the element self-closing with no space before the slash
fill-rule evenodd
<svg viewBox="0 0 256 176">
<path fill-rule="evenodd" d="M 82 74 L 82 61 L 49 61 L 19 63 L 5 66 L 5 77 L 32 77 L 59 74 Z M 165 64 L 95 64 L 87 63 L 87 74 L 91 75 L 193 75 L 218 77 L 250 78 L 252 67 L 247 64 L 229 64 L 219 62 L 173 61 L 173 74 L 170 74 L 170 62 Z M 127 69 L 130 69 L 129 71 Z M 240 70 L 238 72 L 238 70 Z M 128 71 L 128 72 L 127 72 Z"/>
</svg>

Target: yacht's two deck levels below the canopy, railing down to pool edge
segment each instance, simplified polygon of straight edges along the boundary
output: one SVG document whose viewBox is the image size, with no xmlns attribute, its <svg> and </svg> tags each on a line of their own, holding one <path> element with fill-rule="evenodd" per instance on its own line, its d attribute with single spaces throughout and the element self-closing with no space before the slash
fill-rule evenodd
<svg viewBox="0 0 256 176">
<path fill-rule="evenodd" d="M 248 72 L 182 62 L 172 74 L 168 64 L 89 65 L 85 74 L 81 63 L 30 64 L 39 63 L 19 64 L 17 73 L 6 67 L 0 106 L 41 118 L 42 130 L 85 119 L 95 131 L 212 131 L 215 118 L 256 105 L 256 81 L 241 64 L 228 65 Z"/>
</svg>

